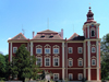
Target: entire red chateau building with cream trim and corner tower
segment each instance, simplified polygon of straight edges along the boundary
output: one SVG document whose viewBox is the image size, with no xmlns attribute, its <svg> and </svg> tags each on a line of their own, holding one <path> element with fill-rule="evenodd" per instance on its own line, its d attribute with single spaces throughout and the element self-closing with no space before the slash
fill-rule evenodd
<svg viewBox="0 0 109 82">
<path fill-rule="evenodd" d="M 16 49 L 25 44 L 31 56 L 38 59 L 36 65 L 48 72 L 47 79 L 70 80 L 82 82 L 101 82 L 100 79 L 100 38 L 99 23 L 94 21 L 90 8 L 87 20 L 83 25 L 83 36 L 74 33 L 69 39 L 63 39 L 63 30 L 60 33 L 46 30 L 27 39 L 22 33 L 9 39 L 9 61 Z M 52 72 L 52 75 L 50 73 Z"/>
</svg>

